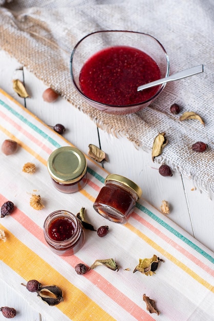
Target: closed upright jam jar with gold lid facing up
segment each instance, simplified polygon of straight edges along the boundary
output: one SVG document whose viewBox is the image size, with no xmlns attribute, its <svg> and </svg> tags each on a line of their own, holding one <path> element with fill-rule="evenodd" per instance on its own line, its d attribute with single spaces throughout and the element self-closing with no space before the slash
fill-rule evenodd
<svg viewBox="0 0 214 321">
<path fill-rule="evenodd" d="M 76 147 L 65 146 L 53 151 L 47 163 L 54 187 L 63 193 L 74 193 L 87 183 L 87 163 Z"/>
</svg>

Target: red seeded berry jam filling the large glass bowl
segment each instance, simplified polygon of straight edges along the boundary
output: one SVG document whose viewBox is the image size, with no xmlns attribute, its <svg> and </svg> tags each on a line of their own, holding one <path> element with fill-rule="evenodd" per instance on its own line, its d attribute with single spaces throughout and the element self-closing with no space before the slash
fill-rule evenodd
<svg viewBox="0 0 214 321">
<path fill-rule="evenodd" d="M 159 87 L 137 91 L 137 87 L 161 77 L 154 59 L 126 46 L 103 49 L 83 65 L 79 84 L 83 94 L 106 105 L 139 104 L 153 97 Z"/>
</svg>

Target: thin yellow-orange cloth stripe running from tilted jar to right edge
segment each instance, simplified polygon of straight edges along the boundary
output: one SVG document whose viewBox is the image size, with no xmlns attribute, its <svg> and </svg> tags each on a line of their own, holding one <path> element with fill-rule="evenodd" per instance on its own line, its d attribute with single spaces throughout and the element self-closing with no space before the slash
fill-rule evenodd
<svg viewBox="0 0 214 321">
<path fill-rule="evenodd" d="M 167 257 L 170 261 L 172 261 L 174 264 L 176 264 L 180 269 L 185 271 L 187 274 L 189 274 L 192 278 L 194 278 L 197 282 L 199 282 L 201 285 L 203 285 L 205 288 L 210 290 L 214 293 L 214 286 L 209 284 L 205 279 L 203 279 L 200 275 L 198 275 L 196 272 L 189 269 L 185 264 L 180 262 L 175 256 L 172 254 L 166 252 L 162 247 L 160 247 L 157 243 L 155 243 L 151 238 L 143 234 L 141 231 L 139 231 L 137 228 L 132 226 L 129 223 L 126 223 L 125 227 L 130 229 L 132 232 L 137 234 L 140 238 L 142 238 L 147 244 L 151 245 L 154 249 L 156 249 L 158 252 L 163 254 L 165 257 Z"/>
</svg>

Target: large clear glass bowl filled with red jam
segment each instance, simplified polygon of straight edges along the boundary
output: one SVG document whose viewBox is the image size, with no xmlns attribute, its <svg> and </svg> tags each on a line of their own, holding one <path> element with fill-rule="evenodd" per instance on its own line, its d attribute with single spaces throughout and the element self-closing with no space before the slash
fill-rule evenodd
<svg viewBox="0 0 214 321">
<path fill-rule="evenodd" d="M 143 57 L 135 58 L 136 51 Z M 104 63 L 103 52 L 109 54 L 109 60 Z M 139 92 L 137 87 L 169 75 L 169 58 L 161 43 L 149 34 L 135 31 L 90 33 L 76 44 L 70 63 L 74 87 L 85 101 L 105 113 L 118 115 L 135 113 L 151 104 L 166 84 Z M 82 67 L 87 63 L 92 69 L 83 72 Z M 92 87 L 87 88 L 89 84 Z M 131 88 L 133 92 L 129 93 Z M 100 91 L 99 96 L 96 91 Z"/>
</svg>

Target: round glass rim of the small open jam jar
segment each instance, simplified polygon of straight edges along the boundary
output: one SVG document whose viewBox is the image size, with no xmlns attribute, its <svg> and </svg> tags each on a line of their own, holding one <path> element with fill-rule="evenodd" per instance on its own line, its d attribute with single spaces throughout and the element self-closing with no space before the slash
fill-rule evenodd
<svg viewBox="0 0 214 321">
<path fill-rule="evenodd" d="M 49 235 L 48 235 L 48 227 L 50 225 L 50 223 L 52 222 L 53 219 L 57 218 L 57 217 L 61 217 L 62 215 L 61 214 L 68 214 L 67 216 L 69 218 L 72 219 L 72 222 L 75 223 L 75 232 L 74 234 L 70 237 L 70 238 L 67 238 L 65 240 L 60 240 L 60 241 L 57 241 L 53 238 L 51 238 Z M 55 215 L 59 214 L 58 216 L 54 217 Z M 52 217 L 51 217 L 52 216 Z M 62 216 L 63 217 L 63 216 Z M 46 223 L 48 221 L 48 219 L 50 219 L 50 222 L 49 224 L 46 226 Z M 46 241 L 51 244 L 52 246 L 58 246 L 60 248 L 66 248 L 68 247 L 68 245 L 72 242 L 72 243 L 75 243 L 76 240 L 79 238 L 79 235 L 83 232 L 83 229 L 82 229 L 82 226 L 79 222 L 79 219 L 70 211 L 68 210 L 56 210 L 52 213 L 50 213 L 46 219 L 45 219 L 45 222 L 44 222 L 44 225 L 43 225 L 43 229 L 44 229 L 44 232 L 45 232 L 45 239 Z"/>
</svg>

